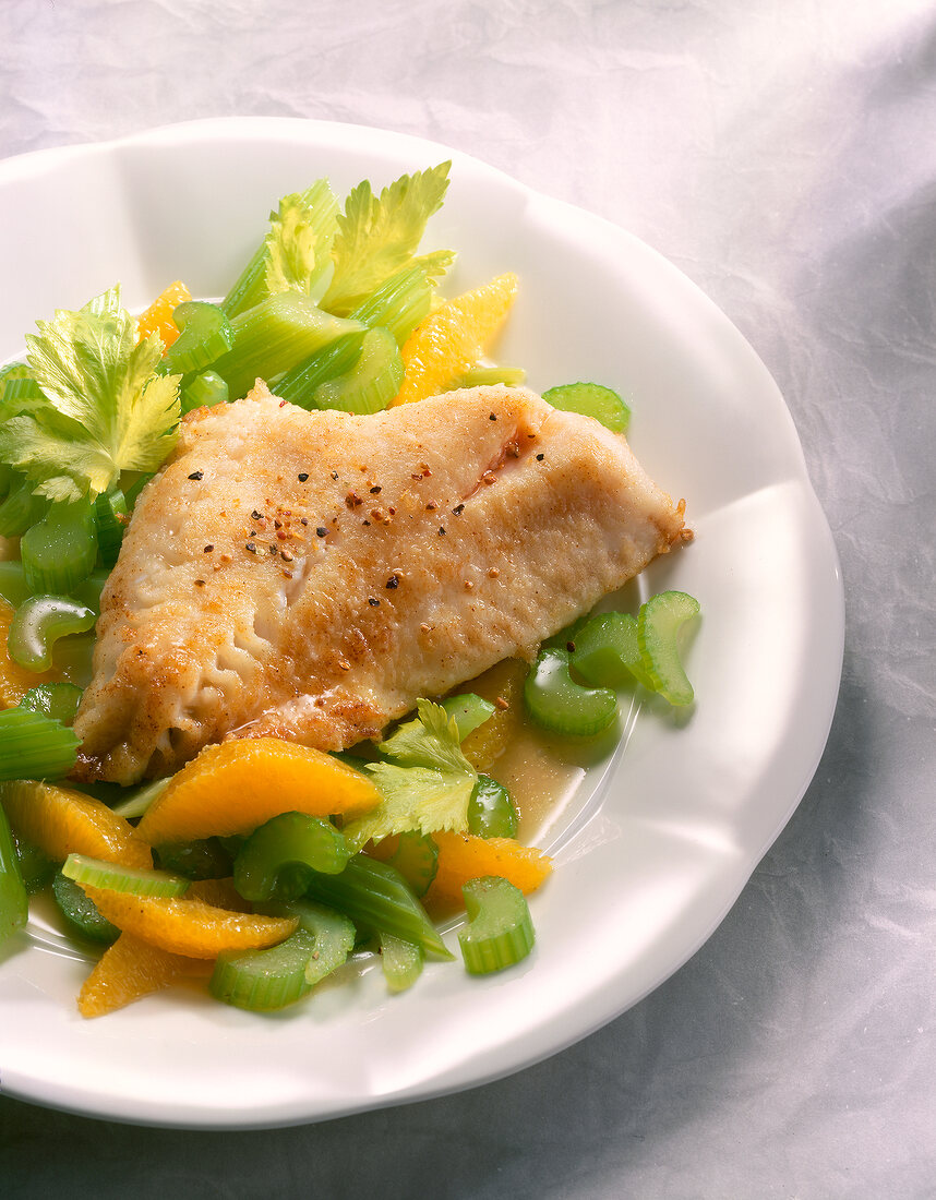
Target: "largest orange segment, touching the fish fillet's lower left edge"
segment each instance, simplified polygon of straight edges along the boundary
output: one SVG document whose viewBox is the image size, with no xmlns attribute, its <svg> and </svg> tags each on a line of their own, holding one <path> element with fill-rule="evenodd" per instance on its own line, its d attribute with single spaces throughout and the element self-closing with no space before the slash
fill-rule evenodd
<svg viewBox="0 0 936 1200">
<path fill-rule="evenodd" d="M 251 833 L 280 812 L 328 817 L 379 803 L 367 778 L 322 750 L 244 738 L 205 746 L 154 800 L 137 833 L 158 846 Z"/>
</svg>

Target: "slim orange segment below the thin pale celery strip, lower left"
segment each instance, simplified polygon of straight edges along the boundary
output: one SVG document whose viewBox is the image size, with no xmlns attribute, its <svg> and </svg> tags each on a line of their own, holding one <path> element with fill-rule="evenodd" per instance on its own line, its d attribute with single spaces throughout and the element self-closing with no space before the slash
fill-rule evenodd
<svg viewBox="0 0 936 1200">
<path fill-rule="evenodd" d="M 166 900 L 133 896 L 80 884 L 98 911 L 118 929 L 172 954 L 214 959 L 222 950 L 259 950 L 295 932 L 296 917 L 230 912 L 197 898 Z"/>
</svg>

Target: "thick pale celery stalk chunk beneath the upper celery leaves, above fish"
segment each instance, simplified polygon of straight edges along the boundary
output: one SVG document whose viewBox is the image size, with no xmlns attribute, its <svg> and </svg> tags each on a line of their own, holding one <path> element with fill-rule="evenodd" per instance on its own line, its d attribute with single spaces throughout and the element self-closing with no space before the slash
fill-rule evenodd
<svg viewBox="0 0 936 1200">
<path fill-rule="evenodd" d="M 214 364 L 233 400 L 256 380 L 268 383 L 290 371 L 313 350 L 360 329 L 356 320 L 332 317 L 298 292 L 280 292 L 232 320 L 234 347 Z"/>
</svg>

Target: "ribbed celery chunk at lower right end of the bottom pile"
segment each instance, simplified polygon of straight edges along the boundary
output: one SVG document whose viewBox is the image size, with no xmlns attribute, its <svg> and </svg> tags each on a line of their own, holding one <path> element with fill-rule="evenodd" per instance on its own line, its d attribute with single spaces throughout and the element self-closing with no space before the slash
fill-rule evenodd
<svg viewBox="0 0 936 1200">
<path fill-rule="evenodd" d="M 462 888 L 468 926 L 458 934 L 469 974 L 491 974 L 527 958 L 535 936 L 527 900 L 509 880 L 486 875 Z"/>
</svg>

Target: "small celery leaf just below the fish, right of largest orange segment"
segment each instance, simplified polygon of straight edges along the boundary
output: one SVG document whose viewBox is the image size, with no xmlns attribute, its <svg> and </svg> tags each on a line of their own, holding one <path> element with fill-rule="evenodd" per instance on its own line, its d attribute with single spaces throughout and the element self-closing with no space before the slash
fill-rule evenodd
<svg viewBox="0 0 936 1200">
<path fill-rule="evenodd" d="M 462 754 L 458 728 L 440 704 L 416 702 L 419 718 L 402 725 L 379 749 L 395 762 L 372 762 L 365 770 L 383 803 L 349 822 L 344 836 L 355 846 L 418 829 L 463 832 L 478 773 Z"/>
</svg>

